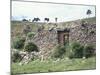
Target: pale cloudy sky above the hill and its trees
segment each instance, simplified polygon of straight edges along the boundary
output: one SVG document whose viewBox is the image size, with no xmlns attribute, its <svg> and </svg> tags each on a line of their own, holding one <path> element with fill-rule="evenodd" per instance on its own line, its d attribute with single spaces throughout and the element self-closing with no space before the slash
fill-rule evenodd
<svg viewBox="0 0 100 75">
<path fill-rule="evenodd" d="M 86 15 L 88 9 L 92 11 L 90 17 L 94 17 L 95 6 L 12 1 L 12 19 L 22 20 L 23 18 L 39 17 L 41 21 L 44 21 L 44 18 L 48 17 L 51 22 L 54 22 L 54 18 L 57 17 L 58 22 L 71 21 L 88 17 Z"/>
</svg>

